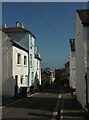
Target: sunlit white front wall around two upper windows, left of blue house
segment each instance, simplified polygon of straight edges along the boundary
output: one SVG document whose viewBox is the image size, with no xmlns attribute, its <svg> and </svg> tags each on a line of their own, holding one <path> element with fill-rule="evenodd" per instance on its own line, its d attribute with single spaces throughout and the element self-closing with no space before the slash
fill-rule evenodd
<svg viewBox="0 0 89 120">
<path fill-rule="evenodd" d="M 21 64 L 17 64 L 17 55 L 21 54 Z M 24 56 L 27 57 L 27 65 L 24 65 Z M 22 49 L 13 46 L 13 77 L 18 75 L 18 87 L 28 86 L 28 53 Z M 21 76 L 23 83 L 21 84 Z M 18 91 L 19 92 L 19 91 Z"/>
</svg>

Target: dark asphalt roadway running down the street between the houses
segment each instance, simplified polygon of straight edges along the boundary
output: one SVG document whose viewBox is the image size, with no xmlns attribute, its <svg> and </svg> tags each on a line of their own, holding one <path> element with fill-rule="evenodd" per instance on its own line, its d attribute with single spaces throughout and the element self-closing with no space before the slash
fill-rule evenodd
<svg viewBox="0 0 89 120">
<path fill-rule="evenodd" d="M 54 120 L 58 117 L 59 85 L 54 84 L 2 109 L 3 120 Z M 59 106 L 60 107 L 60 106 Z M 13 119 L 14 118 L 14 119 Z"/>
</svg>

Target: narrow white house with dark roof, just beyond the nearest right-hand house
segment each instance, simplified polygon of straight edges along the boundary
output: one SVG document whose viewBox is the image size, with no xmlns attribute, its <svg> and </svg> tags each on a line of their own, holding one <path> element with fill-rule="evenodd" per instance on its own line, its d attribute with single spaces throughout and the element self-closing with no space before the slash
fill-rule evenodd
<svg viewBox="0 0 89 120">
<path fill-rule="evenodd" d="M 70 39 L 70 79 L 69 86 L 71 92 L 76 90 L 76 78 L 75 78 L 75 39 Z"/>
</svg>

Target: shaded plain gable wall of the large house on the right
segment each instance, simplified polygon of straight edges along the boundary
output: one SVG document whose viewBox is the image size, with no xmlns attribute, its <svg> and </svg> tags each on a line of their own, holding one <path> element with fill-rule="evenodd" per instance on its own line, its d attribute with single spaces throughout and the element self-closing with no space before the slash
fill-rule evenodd
<svg viewBox="0 0 89 120">
<path fill-rule="evenodd" d="M 83 106 L 86 104 L 85 88 L 85 63 L 84 63 L 84 40 L 83 25 L 76 13 L 76 31 L 75 31 L 75 50 L 76 50 L 76 94 L 77 99 Z"/>
</svg>

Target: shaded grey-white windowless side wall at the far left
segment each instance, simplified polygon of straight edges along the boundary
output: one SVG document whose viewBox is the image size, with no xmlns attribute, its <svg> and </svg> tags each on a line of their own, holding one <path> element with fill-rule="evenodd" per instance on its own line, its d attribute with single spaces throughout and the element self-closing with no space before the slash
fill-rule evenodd
<svg viewBox="0 0 89 120">
<path fill-rule="evenodd" d="M 11 97 L 14 92 L 12 76 L 12 45 L 7 34 L 2 36 L 2 96 Z"/>
</svg>

